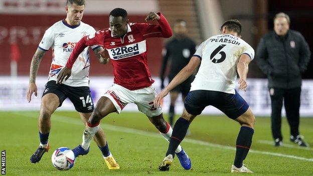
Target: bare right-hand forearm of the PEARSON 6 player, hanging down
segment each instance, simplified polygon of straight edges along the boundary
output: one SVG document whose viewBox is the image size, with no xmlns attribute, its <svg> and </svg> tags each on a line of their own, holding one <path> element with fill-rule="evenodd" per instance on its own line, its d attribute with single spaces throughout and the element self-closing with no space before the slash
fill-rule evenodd
<svg viewBox="0 0 313 176">
<path fill-rule="evenodd" d="M 247 54 L 243 54 L 240 56 L 239 62 L 237 64 L 237 72 L 239 75 L 239 88 L 246 91 L 247 88 L 247 74 L 249 69 L 249 63 L 251 62 L 251 58 Z"/>
</svg>

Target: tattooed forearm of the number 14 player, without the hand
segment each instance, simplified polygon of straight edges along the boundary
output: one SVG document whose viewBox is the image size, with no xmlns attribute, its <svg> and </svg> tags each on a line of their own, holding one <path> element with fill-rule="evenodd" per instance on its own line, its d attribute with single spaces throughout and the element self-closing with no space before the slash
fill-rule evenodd
<svg viewBox="0 0 313 176">
<path fill-rule="evenodd" d="M 32 59 L 32 63 L 31 63 L 31 69 L 30 69 L 30 83 L 35 83 L 36 82 L 36 76 L 38 73 L 38 69 L 39 69 L 39 64 L 41 62 L 41 59 L 43 58 L 43 56 L 45 55 L 46 51 L 43 51 L 39 48 L 37 48 L 33 59 Z"/>
</svg>

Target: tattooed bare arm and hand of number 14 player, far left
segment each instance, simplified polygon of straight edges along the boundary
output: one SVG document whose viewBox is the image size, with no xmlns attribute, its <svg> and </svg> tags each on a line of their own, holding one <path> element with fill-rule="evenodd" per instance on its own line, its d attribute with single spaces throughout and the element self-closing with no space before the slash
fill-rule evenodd
<svg viewBox="0 0 313 176">
<path fill-rule="evenodd" d="M 31 68 L 30 68 L 30 81 L 29 81 L 29 86 L 28 86 L 28 91 L 27 91 L 28 102 L 31 102 L 33 93 L 35 93 L 35 96 L 37 96 L 36 76 L 38 73 L 40 62 L 43 56 L 45 55 L 45 53 L 46 51 L 37 48 L 33 56 L 33 59 L 31 62 Z"/>
</svg>

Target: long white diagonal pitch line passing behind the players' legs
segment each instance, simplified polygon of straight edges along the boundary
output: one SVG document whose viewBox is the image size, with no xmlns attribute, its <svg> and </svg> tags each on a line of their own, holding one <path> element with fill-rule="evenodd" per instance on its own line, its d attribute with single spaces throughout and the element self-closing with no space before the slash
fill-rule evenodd
<svg viewBox="0 0 313 176">
<path fill-rule="evenodd" d="M 38 115 L 39 115 L 39 113 L 35 113 L 35 112 L 25 112 L 23 114 L 14 113 L 14 114 L 17 114 L 19 116 L 33 117 L 33 118 L 38 118 Z M 30 114 L 33 114 L 33 115 L 30 115 Z M 56 119 L 56 117 L 58 117 L 58 119 Z M 70 120 L 67 120 L 69 118 L 70 118 Z M 61 116 L 61 115 L 55 115 L 54 114 L 53 117 L 51 118 L 51 120 L 83 126 L 81 120 L 75 119 L 75 118 L 70 117 L 70 116 Z M 100 125 L 101 125 L 101 123 L 100 123 Z M 157 134 L 154 132 L 143 131 L 143 130 L 128 128 L 128 127 L 117 126 L 117 125 L 105 124 L 105 126 L 102 126 L 101 128 L 108 129 L 111 131 L 126 132 L 126 133 L 133 133 L 133 134 L 138 134 L 138 135 L 143 135 L 143 136 L 162 138 L 160 136 L 160 134 Z M 82 129 L 82 131 L 83 131 L 83 129 Z M 216 144 L 216 143 L 211 143 L 211 142 L 206 142 L 206 141 L 201 141 L 201 140 L 196 140 L 196 139 L 185 138 L 184 141 L 188 142 L 188 143 L 205 145 L 205 146 L 210 146 L 210 147 L 215 147 L 215 148 L 222 148 L 222 149 L 228 149 L 228 150 L 234 150 L 234 151 L 236 150 L 236 147 L 226 146 L 226 145 L 221 145 L 221 144 Z M 249 152 L 250 153 L 258 153 L 258 154 L 265 154 L 265 155 L 272 155 L 272 156 L 287 157 L 287 158 L 292 158 L 292 159 L 298 159 L 298 160 L 313 162 L 313 158 L 305 158 L 305 157 L 289 155 L 289 154 L 275 153 L 275 152 L 269 152 L 269 151 L 259 151 L 259 150 L 253 150 L 253 149 L 250 149 Z"/>
</svg>

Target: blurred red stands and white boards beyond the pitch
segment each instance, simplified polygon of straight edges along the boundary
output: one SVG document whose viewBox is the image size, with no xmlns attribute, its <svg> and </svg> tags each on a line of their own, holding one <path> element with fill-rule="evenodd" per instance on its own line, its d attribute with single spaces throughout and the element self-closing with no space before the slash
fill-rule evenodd
<svg viewBox="0 0 313 176">
<path fill-rule="evenodd" d="M 31 103 L 26 101 L 28 75 L 31 59 L 45 30 L 64 19 L 65 0 L 0 0 L 0 109 L 1 110 L 38 110 L 40 96 L 34 97 Z M 83 22 L 96 30 L 108 27 L 108 13 L 115 7 L 128 11 L 130 22 L 144 22 L 149 12 L 161 11 L 169 22 L 183 19 L 187 22 L 189 36 L 197 44 L 212 35 L 219 34 L 220 25 L 232 18 L 242 23 L 242 38 L 254 49 L 262 35 L 273 28 L 273 16 L 285 12 L 290 16 L 291 29 L 299 31 L 309 46 L 313 46 L 310 32 L 313 25 L 313 1 L 266 1 L 266 0 L 89 0 L 87 1 Z M 148 40 L 148 64 L 154 77 L 154 87 L 160 90 L 159 73 L 162 62 L 163 39 Z M 112 83 L 111 64 L 98 64 L 91 54 L 91 89 L 97 100 Z M 43 58 L 38 72 L 37 86 L 41 95 L 47 80 L 52 59 L 51 49 Z M 301 95 L 301 116 L 313 116 L 313 61 L 303 75 L 305 79 Z M 242 96 L 249 102 L 257 115 L 270 114 L 270 99 L 266 88 L 267 81 L 256 62 L 249 66 L 249 87 Z M 177 112 L 183 109 L 178 100 Z M 169 98 L 164 100 L 167 111 Z M 66 101 L 61 110 L 72 110 L 73 106 Z M 127 105 L 125 110 L 133 111 L 136 107 Z M 284 110 L 283 110 L 284 111 Z M 215 108 L 206 108 L 206 114 L 219 114 Z M 284 113 L 284 112 L 283 112 Z"/>
</svg>

